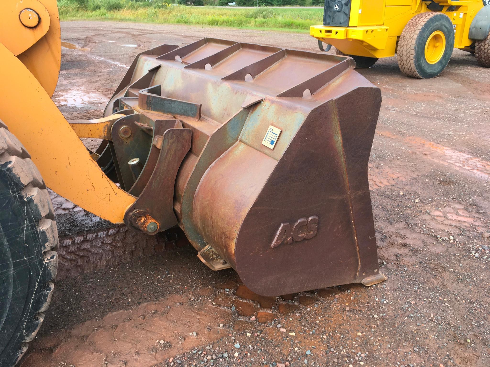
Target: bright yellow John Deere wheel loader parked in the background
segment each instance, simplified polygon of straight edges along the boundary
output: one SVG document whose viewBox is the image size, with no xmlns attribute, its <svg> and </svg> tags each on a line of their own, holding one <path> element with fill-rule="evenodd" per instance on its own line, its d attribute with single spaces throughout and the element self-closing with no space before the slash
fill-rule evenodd
<svg viewBox="0 0 490 367">
<path fill-rule="evenodd" d="M 325 0 L 323 25 L 310 35 L 348 55 L 359 69 L 397 55 L 400 70 L 433 78 L 453 48 L 474 53 L 490 68 L 489 0 Z"/>
</svg>

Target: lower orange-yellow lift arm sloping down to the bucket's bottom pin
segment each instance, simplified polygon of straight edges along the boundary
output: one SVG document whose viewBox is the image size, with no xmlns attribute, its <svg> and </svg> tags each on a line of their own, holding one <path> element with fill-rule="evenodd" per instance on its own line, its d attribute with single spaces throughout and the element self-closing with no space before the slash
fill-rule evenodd
<svg viewBox="0 0 490 367">
<path fill-rule="evenodd" d="M 123 223 L 136 198 L 107 178 L 43 86 L 1 44 L 0 60 L 0 100 L 8 106 L 0 119 L 23 142 L 49 188 L 103 219 Z"/>
</svg>

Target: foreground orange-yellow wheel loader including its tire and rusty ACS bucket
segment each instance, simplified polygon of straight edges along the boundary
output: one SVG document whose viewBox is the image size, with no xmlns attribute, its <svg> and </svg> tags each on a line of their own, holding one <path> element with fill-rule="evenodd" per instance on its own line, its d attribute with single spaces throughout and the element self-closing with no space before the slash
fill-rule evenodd
<svg viewBox="0 0 490 367">
<path fill-rule="evenodd" d="M 351 58 L 160 45 L 137 55 L 103 116 L 67 121 L 50 98 L 56 0 L 0 10 L 0 366 L 22 357 L 54 289 L 47 187 L 149 236 L 180 227 L 206 266 L 261 295 L 386 279 L 368 186 L 381 93 Z"/>
</svg>

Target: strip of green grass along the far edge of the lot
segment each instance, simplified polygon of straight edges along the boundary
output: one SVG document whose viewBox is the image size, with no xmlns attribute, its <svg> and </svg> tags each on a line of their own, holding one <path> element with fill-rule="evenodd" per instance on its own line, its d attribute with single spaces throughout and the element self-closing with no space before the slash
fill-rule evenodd
<svg viewBox="0 0 490 367">
<path fill-rule="evenodd" d="M 250 9 L 171 5 L 162 0 L 58 0 L 60 19 L 199 24 L 306 31 L 321 24 L 323 9 Z"/>
</svg>

